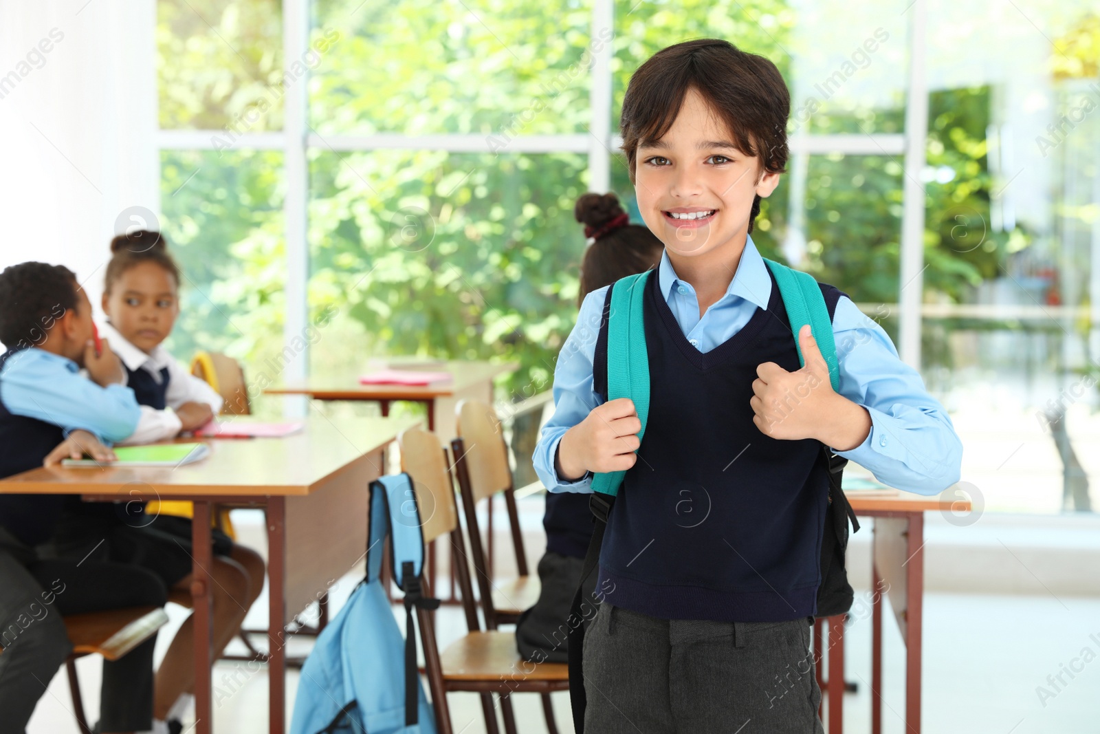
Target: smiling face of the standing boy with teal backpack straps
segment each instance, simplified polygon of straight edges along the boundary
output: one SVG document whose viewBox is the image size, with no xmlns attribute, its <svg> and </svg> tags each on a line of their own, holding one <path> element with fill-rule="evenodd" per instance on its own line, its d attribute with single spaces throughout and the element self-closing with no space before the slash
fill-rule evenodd
<svg viewBox="0 0 1100 734">
<path fill-rule="evenodd" d="M 641 218 L 670 258 L 739 251 L 754 197 L 771 195 L 779 184 L 779 174 L 763 172 L 759 157 L 735 147 L 725 123 L 695 89 L 664 136 L 638 147 L 635 166 Z"/>
</svg>

